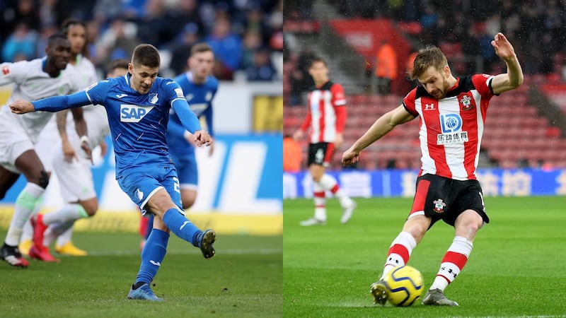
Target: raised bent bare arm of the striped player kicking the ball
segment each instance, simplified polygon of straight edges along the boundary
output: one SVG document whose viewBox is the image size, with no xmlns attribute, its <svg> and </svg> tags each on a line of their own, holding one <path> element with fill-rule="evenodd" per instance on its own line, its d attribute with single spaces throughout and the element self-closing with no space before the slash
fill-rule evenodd
<svg viewBox="0 0 566 318">
<path fill-rule="evenodd" d="M 523 70 L 515 54 L 515 49 L 507 40 L 507 37 L 503 33 L 497 33 L 491 45 L 495 49 L 495 54 L 507 64 L 507 73 L 499 74 L 492 80 L 491 87 L 493 93 L 499 94 L 521 86 L 523 83 Z"/>
</svg>

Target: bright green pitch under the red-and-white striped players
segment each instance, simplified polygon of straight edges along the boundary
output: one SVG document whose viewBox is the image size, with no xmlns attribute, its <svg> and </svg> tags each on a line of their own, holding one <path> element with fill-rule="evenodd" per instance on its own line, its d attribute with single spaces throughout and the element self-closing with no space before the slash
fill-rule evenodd
<svg viewBox="0 0 566 318">
<path fill-rule="evenodd" d="M 350 223 L 328 200 L 324 226 L 304 228 L 311 200 L 284 201 L 285 317 L 566 317 L 566 197 L 487 197 L 491 222 L 480 229 L 468 264 L 445 293 L 461 307 L 381 307 L 372 303 L 391 241 L 412 199 L 357 199 Z M 409 264 L 434 280 L 454 228 L 437 223 Z M 424 296 L 424 295 L 423 295 Z"/>
</svg>

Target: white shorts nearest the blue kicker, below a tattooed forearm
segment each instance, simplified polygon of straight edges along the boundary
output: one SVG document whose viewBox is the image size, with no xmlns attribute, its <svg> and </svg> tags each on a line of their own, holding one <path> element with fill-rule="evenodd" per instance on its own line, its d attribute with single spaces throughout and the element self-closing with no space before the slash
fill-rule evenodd
<svg viewBox="0 0 566 318">
<path fill-rule="evenodd" d="M 69 163 L 64 160 L 63 151 L 55 153 L 53 159 L 53 171 L 59 180 L 59 189 L 65 202 L 84 201 L 96 197 L 90 160 L 79 156 L 79 160 L 74 158 Z"/>
</svg>

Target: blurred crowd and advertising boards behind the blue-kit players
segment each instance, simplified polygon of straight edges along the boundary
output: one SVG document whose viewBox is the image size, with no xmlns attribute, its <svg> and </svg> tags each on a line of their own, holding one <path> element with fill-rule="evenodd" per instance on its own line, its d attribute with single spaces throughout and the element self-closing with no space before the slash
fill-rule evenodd
<svg viewBox="0 0 566 318">
<path fill-rule="evenodd" d="M 221 81 L 214 100 L 216 146 L 212 158 L 207 149 L 197 150 L 200 189 L 190 217 L 220 234 L 282 235 L 282 1 L 22 0 L 1 1 L 0 11 L 0 62 L 45 56 L 45 40 L 57 25 L 79 18 L 88 25 L 100 79 L 111 59 L 129 59 L 141 42 L 160 50 L 164 77 L 185 71 L 193 43 L 209 42 Z M 0 105 L 10 92 L 0 88 Z M 93 167 L 100 211 L 79 220 L 77 231 L 138 230 L 139 213 L 115 182 L 107 143 L 108 155 L 98 155 Z M 1 228 L 8 228 L 24 184 L 21 177 L 1 201 Z M 54 176 L 43 210 L 61 205 Z"/>
</svg>

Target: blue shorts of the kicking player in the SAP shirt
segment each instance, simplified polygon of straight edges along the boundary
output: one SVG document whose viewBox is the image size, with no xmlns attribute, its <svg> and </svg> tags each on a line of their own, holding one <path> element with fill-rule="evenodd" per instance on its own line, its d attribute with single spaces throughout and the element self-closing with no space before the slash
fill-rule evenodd
<svg viewBox="0 0 566 318">
<path fill-rule="evenodd" d="M 141 215 L 146 213 L 147 201 L 159 189 L 166 189 L 173 203 L 184 214 L 177 170 L 172 163 L 134 167 L 125 172 L 122 177 L 119 177 L 117 182 L 129 196 L 129 199 L 132 199 L 134 204 L 139 207 Z"/>
</svg>

